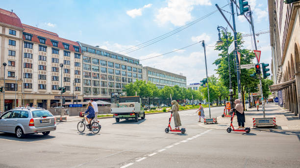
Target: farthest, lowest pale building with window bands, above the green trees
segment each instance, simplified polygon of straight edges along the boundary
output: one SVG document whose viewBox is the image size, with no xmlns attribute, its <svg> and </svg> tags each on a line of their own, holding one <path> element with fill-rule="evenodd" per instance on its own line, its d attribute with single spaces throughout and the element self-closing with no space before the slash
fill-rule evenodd
<svg viewBox="0 0 300 168">
<path fill-rule="evenodd" d="M 175 73 L 163 71 L 160 69 L 152 68 L 149 66 L 143 67 L 143 80 L 146 83 L 151 82 L 156 84 L 158 88 L 164 86 L 175 86 L 186 87 L 186 77 Z"/>
</svg>

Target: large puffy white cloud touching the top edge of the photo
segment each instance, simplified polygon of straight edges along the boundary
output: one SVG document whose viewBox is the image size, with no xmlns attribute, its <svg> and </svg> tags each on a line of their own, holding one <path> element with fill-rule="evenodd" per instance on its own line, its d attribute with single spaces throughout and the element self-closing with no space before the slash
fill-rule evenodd
<svg viewBox="0 0 300 168">
<path fill-rule="evenodd" d="M 171 22 L 175 26 L 182 26 L 192 21 L 191 11 L 195 5 L 211 5 L 210 0 L 168 0 L 168 7 L 160 8 L 155 21 L 162 25 Z"/>
</svg>

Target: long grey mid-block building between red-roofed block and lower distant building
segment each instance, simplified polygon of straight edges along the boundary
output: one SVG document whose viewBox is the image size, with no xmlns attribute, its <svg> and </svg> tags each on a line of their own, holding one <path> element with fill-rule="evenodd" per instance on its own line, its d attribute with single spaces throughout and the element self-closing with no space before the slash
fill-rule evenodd
<svg viewBox="0 0 300 168">
<path fill-rule="evenodd" d="M 138 59 L 78 42 L 82 49 L 83 99 L 110 100 L 128 83 L 143 80 Z"/>
</svg>

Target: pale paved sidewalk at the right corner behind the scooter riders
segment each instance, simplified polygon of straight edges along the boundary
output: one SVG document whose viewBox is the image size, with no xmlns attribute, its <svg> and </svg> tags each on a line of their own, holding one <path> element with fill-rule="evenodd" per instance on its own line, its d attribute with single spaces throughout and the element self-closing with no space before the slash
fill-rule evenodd
<svg viewBox="0 0 300 168">
<path fill-rule="evenodd" d="M 265 110 L 266 117 L 276 117 L 277 127 L 258 127 L 256 130 L 300 130 L 300 120 L 298 119 L 298 116 L 294 115 L 294 113 L 291 113 L 287 109 L 279 107 L 275 104 L 265 105 Z M 248 111 L 245 111 L 245 127 L 253 128 L 253 118 L 256 117 L 263 117 L 261 105 L 259 106 L 259 111 L 256 111 L 256 108 L 248 108 Z M 213 129 L 226 129 L 230 125 L 230 117 L 217 117 L 217 122 L 218 124 L 207 125 L 204 125 L 204 123 L 200 123 L 199 126 Z M 236 116 L 234 116 L 232 124 L 234 127 L 238 127 Z"/>
</svg>

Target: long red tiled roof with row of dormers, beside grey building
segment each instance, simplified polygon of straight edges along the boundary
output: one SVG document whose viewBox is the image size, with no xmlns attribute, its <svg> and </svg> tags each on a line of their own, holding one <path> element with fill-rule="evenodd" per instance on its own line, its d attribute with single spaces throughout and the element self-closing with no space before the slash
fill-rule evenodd
<svg viewBox="0 0 300 168">
<path fill-rule="evenodd" d="M 63 42 L 70 44 L 70 46 L 69 46 L 70 51 L 75 51 L 73 45 L 79 47 L 79 44 L 77 42 L 73 42 L 71 40 L 60 38 L 60 37 L 58 37 L 58 35 L 56 33 L 53 33 L 53 32 L 50 32 L 50 31 L 47 31 L 44 29 L 40 29 L 37 27 L 33 27 L 33 26 L 30 26 L 27 24 L 22 24 L 22 25 L 23 25 L 23 28 L 25 29 L 24 30 L 25 33 L 29 33 L 29 34 L 33 35 L 32 39 L 31 39 L 32 42 L 40 43 L 39 39 L 37 38 L 37 36 L 40 36 L 40 37 L 46 38 L 46 42 L 45 42 L 46 45 L 52 46 L 52 42 L 50 40 L 55 40 L 55 41 L 58 41 L 58 48 L 61 48 L 61 49 L 65 49 L 65 47 L 62 44 Z M 23 36 L 23 39 L 25 39 L 25 36 Z M 79 47 L 79 52 L 81 52 L 80 47 Z"/>
</svg>

